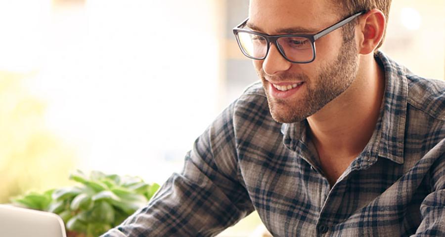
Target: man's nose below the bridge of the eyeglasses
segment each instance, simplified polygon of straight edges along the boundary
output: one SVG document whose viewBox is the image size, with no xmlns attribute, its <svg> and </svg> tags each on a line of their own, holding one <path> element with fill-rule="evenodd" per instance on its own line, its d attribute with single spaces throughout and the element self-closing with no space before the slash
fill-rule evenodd
<svg viewBox="0 0 445 237">
<path fill-rule="evenodd" d="M 292 63 L 287 61 L 278 51 L 275 44 L 271 43 L 267 57 L 263 61 L 263 70 L 268 76 L 276 75 L 288 70 Z"/>
</svg>

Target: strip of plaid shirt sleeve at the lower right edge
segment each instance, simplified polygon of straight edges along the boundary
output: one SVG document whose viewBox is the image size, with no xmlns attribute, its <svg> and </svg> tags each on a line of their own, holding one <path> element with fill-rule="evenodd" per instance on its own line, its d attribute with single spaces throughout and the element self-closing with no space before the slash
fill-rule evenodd
<svg viewBox="0 0 445 237">
<path fill-rule="evenodd" d="M 437 160 L 431 166 L 432 192 L 420 205 L 422 222 L 415 237 L 445 236 L 445 139 L 433 150 Z"/>
</svg>

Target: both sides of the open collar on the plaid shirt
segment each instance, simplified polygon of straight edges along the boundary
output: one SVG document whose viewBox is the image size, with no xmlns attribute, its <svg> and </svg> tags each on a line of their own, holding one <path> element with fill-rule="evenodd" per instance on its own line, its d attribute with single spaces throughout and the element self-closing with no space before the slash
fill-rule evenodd
<svg viewBox="0 0 445 237">
<path fill-rule="evenodd" d="M 374 134 L 362 153 L 365 155 L 362 161 L 370 162 L 369 156 L 380 156 L 401 164 L 403 163 L 408 96 L 408 83 L 405 77 L 407 69 L 398 65 L 381 51 L 376 53 L 375 58 L 384 67 L 385 94 L 380 117 Z M 283 123 L 281 133 L 284 145 L 292 151 L 300 149 L 307 151 L 305 145 L 308 142 L 307 126 L 306 119 L 301 122 Z"/>
</svg>

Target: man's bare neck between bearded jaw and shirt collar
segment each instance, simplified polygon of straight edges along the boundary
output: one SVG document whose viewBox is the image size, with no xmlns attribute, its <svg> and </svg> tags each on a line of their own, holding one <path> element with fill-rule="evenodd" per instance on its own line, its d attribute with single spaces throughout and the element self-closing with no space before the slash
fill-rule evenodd
<svg viewBox="0 0 445 237">
<path fill-rule="evenodd" d="M 319 155 L 355 158 L 374 132 L 385 90 L 384 72 L 372 55 L 360 55 L 359 60 L 351 86 L 308 118 Z"/>
</svg>

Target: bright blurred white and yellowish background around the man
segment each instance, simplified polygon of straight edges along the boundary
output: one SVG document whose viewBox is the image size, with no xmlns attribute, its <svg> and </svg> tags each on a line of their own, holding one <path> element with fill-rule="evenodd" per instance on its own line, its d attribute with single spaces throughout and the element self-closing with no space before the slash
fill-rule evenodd
<svg viewBox="0 0 445 237">
<path fill-rule="evenodd" d="M 74 169 L 163 183 L 250 83 L 248 0 L 0 0 L 0 203 Z M 445 1 L 393 0 L 382 50 L 445 74 Z M 255 214 L 220 236 L 249 236 Z M 258 231 L 258 230 L 257 230 Z"/>
</svg>

